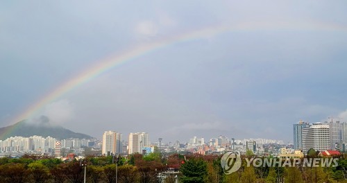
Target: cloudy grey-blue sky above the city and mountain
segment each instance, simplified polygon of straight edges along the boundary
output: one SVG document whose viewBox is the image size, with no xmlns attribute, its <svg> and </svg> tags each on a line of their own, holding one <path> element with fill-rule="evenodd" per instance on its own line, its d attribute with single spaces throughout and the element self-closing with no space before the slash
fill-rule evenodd
<svg viewBox="0 0 347 183">
<path fill-rule="evenodd" d="M 3 1 L 0 126 L 92 68 L 169 37 L 31 114 L 101 137 L 292 141 L 347 121 L 346 1 Z M 219 31 L 201 30 L 228 27 Z M 200 32 L 199 32 L 200 31 Z M 170 38 L 171 39 L 171 38 Z"/>
</svg>

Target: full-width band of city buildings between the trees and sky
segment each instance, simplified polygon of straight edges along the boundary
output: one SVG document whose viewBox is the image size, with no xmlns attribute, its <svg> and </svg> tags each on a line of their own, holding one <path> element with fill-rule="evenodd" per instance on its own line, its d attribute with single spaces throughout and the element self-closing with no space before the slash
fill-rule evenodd
<svg viewBox="0 0 347 183">
<path fill-rule="evenodd" d="M 293 143 L 285 143 L 275 139 L 235 139 L 219 135 L 210 139 L 192 137 L 187 141 L 167 142 L 165 137 L 151 142 L 148 132 L 133 132 L 126 137 L 121 132 L 109 130 L 102 134 L 102 139 L 56 139 L 53 137 L 10 137 L 0 140 L 0 156 L 8 155 L 50 155 L 65 157 L 67 153 L 85 155 L 84 148 L 94 150 L 93 155 L 132 155 L 139 153 L 148 155 L 154 153 L 155 147 L 161 153 L 180 154 L 223 154 L 227 151 L 238 151 L 246 154 L 250 150 L 255 155 L 293 157 L 302 155 L 313 148 L 316 151 L 325 150 L 346 151 L 347 123 L 334 119 L 324 122 L 308 123 L 299 121 L 293 124 Z"/>
</svg>

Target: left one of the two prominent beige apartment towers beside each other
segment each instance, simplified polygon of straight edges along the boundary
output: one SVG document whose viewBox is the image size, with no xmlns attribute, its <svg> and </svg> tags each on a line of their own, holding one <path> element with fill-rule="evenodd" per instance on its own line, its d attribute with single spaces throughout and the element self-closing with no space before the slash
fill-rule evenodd
<svg viewBox="0 0 347 183">
<path fill-rule="evenodd" d="M 121 133 L 115 131 L 105 131 L 103 133 L 103 145 L 101 153 L 103 155 L 121 154 Z"/>
</svg>

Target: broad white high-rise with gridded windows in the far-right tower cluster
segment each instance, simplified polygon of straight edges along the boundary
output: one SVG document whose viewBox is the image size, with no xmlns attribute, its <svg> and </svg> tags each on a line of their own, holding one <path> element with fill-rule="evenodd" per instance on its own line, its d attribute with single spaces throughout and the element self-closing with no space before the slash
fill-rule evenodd
<svg viewBox="0 0 347 183">
<path fill-rule="evenodd" d="M 330 128 L 328 123 L 313 123 L 309 128 L 302 129 L 303 153 L 310 148 L 314 150 L 330 149 Z"/>
</svg>

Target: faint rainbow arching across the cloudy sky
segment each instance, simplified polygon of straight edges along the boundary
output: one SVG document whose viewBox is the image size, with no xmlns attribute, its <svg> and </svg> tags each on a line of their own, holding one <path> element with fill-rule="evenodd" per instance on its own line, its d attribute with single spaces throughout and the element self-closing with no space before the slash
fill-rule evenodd
<svg viewBox="0 0 347 183">
<path fill-rule="evenodd" d="M 277 23 L 267 23 L 267 22 L 246 22 L 242 24 L 236 24 L 231 26 L 225 25 L 217 25 L 210 26 L 207 28 L 202 28 L 199 30 L 189 31 L 187 33 L 183 33 L 180 35 L 175 35 L 172 37 L 166 37 L 162 40 L 157 40 L 151 42 L 149 44 L 142 44 L 139 46 L 135 46 L 134 48 L 128 49 L 123 53 L 119 53 L 117 55 L 111 56 L 110 58 L 106 58 L 97 62 L 97 64 L 93 65 L 89 69 L 86 69 L 82 73 L 78 74 L 76 77 L 67 80 L 59 87 L 56 87 L 52 92 L 49 92 L 44 97 L 42 97 L 33 105 L 27 107 L 27 109 L 19 114 L 13 119 L 10 124 L 17 123 L 18 121 L 22 121 L 24 119 L 30 119 L 37 112 L 39 112 L 45 105 L 56 101 L 57 98 L 66 94 L 76 87 L 79 87 L 86 82 L 96 78 L 101 73 L 104 73 L 114 67 L 120 66 L 125 62 L 130 60 L 135 60 L 135 58 L 139 58 L 142 55 L 147 53 L 151 53 L 158 49 L 162 49 L 165 46 L 169 46 L 172 44 L 176 44 L 179 42 L 185 42 L 189 40 L 196 40 L 204 37 L 213 37 L 214 35 L 218 35 L 220 33 L 225 33 L 229 31 L 262 31 L 262 30 L 323 30 L 323 31 L 335 31 L 335 30 L 343 30 L 346 31 L 346 26 L 341 26 L 339 24 L 325 24 L 321 22 L 312 22 L 307 24 L 307 22 L 277 22 Z M 12 128 L 7 130 L 5 133 L 0 134 L 0 139 L 4 137 L 6 134 L 15 130 L 15 125 L 12 125 Z"/>
</svg>

